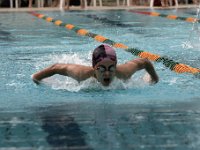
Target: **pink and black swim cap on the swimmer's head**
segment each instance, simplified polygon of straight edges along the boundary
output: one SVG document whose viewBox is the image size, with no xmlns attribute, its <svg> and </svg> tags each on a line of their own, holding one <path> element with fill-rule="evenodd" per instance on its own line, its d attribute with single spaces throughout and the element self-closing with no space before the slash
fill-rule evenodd
<svg viewBox="0 0 200 150">
<path fill-rule="evenodd" d="M 98 62 L 102 61 L 105 58 L 111 59 L 112 61 L 116 61 L 117 63 L 117 56 L 115 50 L 109 45 L 101 44 L 93 51 L 92 66 L 94 67 Z"/>
</svg>

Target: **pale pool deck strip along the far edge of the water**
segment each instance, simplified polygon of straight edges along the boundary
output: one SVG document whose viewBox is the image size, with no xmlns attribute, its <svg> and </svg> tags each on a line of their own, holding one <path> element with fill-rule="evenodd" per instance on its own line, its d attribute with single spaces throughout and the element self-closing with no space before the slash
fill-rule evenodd
<svg viewBox="0 0 200 150">
<path fill-rule="evenodd" d="M 197 5 L 179 5 L 178 7 L 153 7 L 152 9 L 183 9 L 183 8 L 197 8 Z M 80 7 L 72 6 L 69 10 L 126 10 L 126 9 L 150 9 L 149 6 L 103 6 L 103 7 L 87 7 L 82 9 Z M 64 9 L 67 11 L 67 9 Z M 27 12 L 27 11 L 60 11 L 59 7 L 40 7 L 40 8 L 0 8 L 0 12 Z"/>
</svg>

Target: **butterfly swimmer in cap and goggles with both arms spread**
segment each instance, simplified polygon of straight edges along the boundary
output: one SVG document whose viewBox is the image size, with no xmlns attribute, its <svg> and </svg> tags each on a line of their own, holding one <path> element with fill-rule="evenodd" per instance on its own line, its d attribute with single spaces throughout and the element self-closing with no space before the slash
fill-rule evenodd
<svg viewBox="0 0 200 150">
<path fill-rule="evenodd" d="M 55 74 L 71 77 L 78 82 L 88 78 L 96 78 L 103 86 L 109 86 L 113 79 L 128 80 L 139 70 L 145 69 L 150 76 L 150 83 L 157 83 L 159 78 L 148 59 L 137 58 L 117 65 L 115 50 L 109 45 L 102 44 L 94 49 L 92 54 L 92 66 L 79 64 L 54 64 L 32 75 L 35 83 L 39 84 L 44 78 Z"/>
</svg>

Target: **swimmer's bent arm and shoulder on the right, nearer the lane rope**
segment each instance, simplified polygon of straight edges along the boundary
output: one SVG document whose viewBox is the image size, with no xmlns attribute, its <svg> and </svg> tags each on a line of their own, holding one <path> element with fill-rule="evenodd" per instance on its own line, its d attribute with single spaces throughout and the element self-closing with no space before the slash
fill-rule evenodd
<svg viewBox="0 0 200 150">
<path fill-rule="evenodd" d="M 151 83 L 157 83 L 159 78 L 148 59 L 138 58 L 131 60 L 117 67 L 117 76 L 122 79 L 129 79 L 136 71 L 145 69 L 151 77 Z"/>
</svg>

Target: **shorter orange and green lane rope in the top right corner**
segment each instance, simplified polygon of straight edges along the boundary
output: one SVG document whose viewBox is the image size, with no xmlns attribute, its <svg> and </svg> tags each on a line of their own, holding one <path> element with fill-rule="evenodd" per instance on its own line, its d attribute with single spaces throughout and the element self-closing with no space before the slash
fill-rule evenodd
<svg viewBox="0 0 200 150">
<path fill-rule="evenodd" d="M 129 10 L 129 12 L 133 12 L 133 13 L 141 14 L 141 15 L 153 16 L 153 17 L 164 17 L 171 20 L 182 20 L 182 21 L 191 22 L 191 23 L 200 22 L 199 19 L 193 18 L 193 17 L 179 17 L 176 15 L 160 14 L 158 12 L 146 12 L 146 11 L 135 11 L 135 10 Z"/>
</svg>

